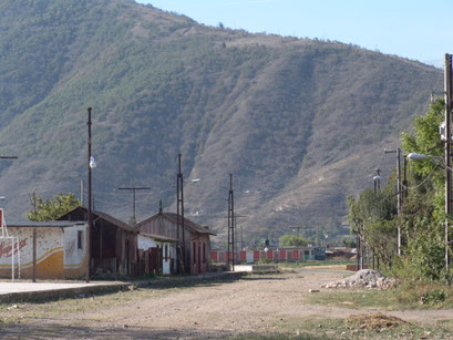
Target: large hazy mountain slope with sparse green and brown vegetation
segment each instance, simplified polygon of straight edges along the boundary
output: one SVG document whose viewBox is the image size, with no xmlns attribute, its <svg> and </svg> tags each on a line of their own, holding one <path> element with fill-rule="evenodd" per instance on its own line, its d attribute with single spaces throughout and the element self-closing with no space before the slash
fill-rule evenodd
<svg viewBox="0 0 453 340">
<path fill-rule="evenodd" d="M 336 233 L 346 196 L 378 166 L 389 175 L 383 148 L 442 78 L 351 44 L 205 27 L 127 0 L 0 0 L 0 152 L 19 157 L 0 161 L 7 220 L 23 218 L 30 193 L 80 192 L 92 106 L 96 209 L 127 220 L 117 187 L 146 185 L 138 219 L 159 198 L 173 210 L 182 153 L 186 215 L 218 243 L 229 173 L 246 239 L 295 225 Z"/>
</svg>

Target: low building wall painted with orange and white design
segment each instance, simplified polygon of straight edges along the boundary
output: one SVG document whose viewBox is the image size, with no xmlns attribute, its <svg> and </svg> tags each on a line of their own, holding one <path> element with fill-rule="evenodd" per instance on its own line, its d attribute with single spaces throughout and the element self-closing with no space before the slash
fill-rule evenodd
<svg viewBox="0 0 453 340">
<path fill-rule="evenodd" d="M 39 279 L 83 278 L 86 272 L 86 226 L 16 227 L 10 236 L 20 239 L 21 278 L 33 277 L 33 229 L 37 230 L 35 275 Z M 78 231 L 83 233 L 82 249 L 78 248 Z M 14 249 L 16 250 L 16 249 Z M 11 277 L 11 240 L 0 239 L 0 276 Z M 17 250 L 14 251 L 17 261 Z M 18 272 L 16 265 L 16 272 Z"/>
</svg>

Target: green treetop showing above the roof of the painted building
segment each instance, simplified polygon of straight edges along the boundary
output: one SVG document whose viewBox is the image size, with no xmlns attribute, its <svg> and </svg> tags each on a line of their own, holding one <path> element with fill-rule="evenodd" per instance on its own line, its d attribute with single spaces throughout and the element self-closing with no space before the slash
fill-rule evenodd
<svg viewBox="0 0 453 340">
<path fill-rule="evenodd" d="M 41 196 L 32 195 L 30 196 L 30 205 L 32 209 L 27 213 L 27 218 L 40 221 L 54 220 L 81 206 L 81 202 L 72 193 L 59 194 L 45 200 Z"/>
</svg>

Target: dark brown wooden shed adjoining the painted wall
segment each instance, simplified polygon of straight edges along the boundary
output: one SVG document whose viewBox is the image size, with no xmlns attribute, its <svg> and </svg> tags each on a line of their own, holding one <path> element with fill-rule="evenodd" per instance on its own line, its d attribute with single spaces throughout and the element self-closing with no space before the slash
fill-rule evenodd
<svg viewBox="0 0 453 340">
<path fill-rule="evenodd" d="M 138 231 L 115 217 L 92 210 L 91 274 L 104 276 L 136 276 Z M 76 207 L 59 220 L 87 220 L 87 209 Z"/>
</svg>

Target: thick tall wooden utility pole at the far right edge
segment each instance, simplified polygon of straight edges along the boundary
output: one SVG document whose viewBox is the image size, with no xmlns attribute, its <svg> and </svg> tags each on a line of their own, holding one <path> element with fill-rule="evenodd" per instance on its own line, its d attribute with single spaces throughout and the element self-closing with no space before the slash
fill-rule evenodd
<svg viewBox="0 0 453 340">
<path fill-rule="evenodd" d="M 445 269 L 450 267 L 449 218 L 452 216 L 452 157 L 451 157 L 451 113 L 452 113 L 452 55 L 445 54 Z"/>
</svg>

